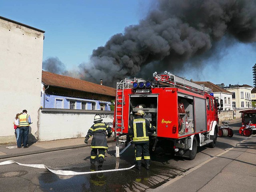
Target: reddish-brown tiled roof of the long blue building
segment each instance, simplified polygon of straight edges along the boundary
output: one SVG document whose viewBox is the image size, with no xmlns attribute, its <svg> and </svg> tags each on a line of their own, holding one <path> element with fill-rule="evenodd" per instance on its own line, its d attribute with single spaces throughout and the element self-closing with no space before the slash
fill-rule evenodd
<svg viewBox="0 0 256 192">
<path fill-rule="evenodd" d="M 42 71 L 42 82 L 46 85 L 79 90 L 84 92 L 116 96 L 116 89 L 69 76 Z"/>
</svg>

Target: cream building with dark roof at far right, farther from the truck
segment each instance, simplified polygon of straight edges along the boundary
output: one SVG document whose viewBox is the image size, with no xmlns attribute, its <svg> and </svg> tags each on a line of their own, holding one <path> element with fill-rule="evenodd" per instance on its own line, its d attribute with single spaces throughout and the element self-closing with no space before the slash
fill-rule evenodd
<svg viewBox="0 0 256 192">
<path fill-rule="evenodd" d="M 251 91 L 253 89 L 250 85 L 231 85 L 224 88 L 232 92 L 232 106 L 236 109 L 250 109 L 252 108 Z"/>
</svg>

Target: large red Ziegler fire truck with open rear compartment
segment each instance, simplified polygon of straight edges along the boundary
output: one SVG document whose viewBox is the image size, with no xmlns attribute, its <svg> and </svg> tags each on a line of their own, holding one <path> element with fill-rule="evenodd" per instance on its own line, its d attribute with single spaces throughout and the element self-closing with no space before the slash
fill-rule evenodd
<svg viewBox="0 0 256 192">
<path fill-rule="evenodd" d="M 218 133 L 218 103 L 210 88 L 165 71 L 152 80 L 124 79 L 117 83 L 114 131 L 117 139 L 128 134 L 128 124 L 138 110 L 156 131 L 150 133 L 150 150 L 161 147 L 190 160 L 198 146 L 214 148 Z"/>
</svg>

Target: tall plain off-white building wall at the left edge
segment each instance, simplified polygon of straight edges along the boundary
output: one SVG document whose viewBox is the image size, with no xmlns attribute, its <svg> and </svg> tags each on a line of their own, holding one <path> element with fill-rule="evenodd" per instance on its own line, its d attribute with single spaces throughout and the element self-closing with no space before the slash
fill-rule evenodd
<svg viewBox="0 0 256 192">
<path fill-rule="evenodd" d="M 37 131 L 44 32 L 0 17 L 0 144 L 15 143 L 12 122 L 26 109 Z M 31 135 L 29 137 L 29 141 Z"/>
</svg>

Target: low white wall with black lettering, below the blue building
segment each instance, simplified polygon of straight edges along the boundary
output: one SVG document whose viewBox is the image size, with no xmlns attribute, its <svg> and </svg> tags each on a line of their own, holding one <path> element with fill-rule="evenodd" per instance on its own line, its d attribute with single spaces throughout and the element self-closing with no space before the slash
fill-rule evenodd
<svg viewBox="0 0 256 192">
<path fill-rule="evenodd" d="M 114 111 L 81 111 L 42 108 L 40 128 L 36 135 L 38 141 L 85 137 L 94 124 L 94 116 L 100 114 L 103 121 L 113 126 Z"/>
</svg>

